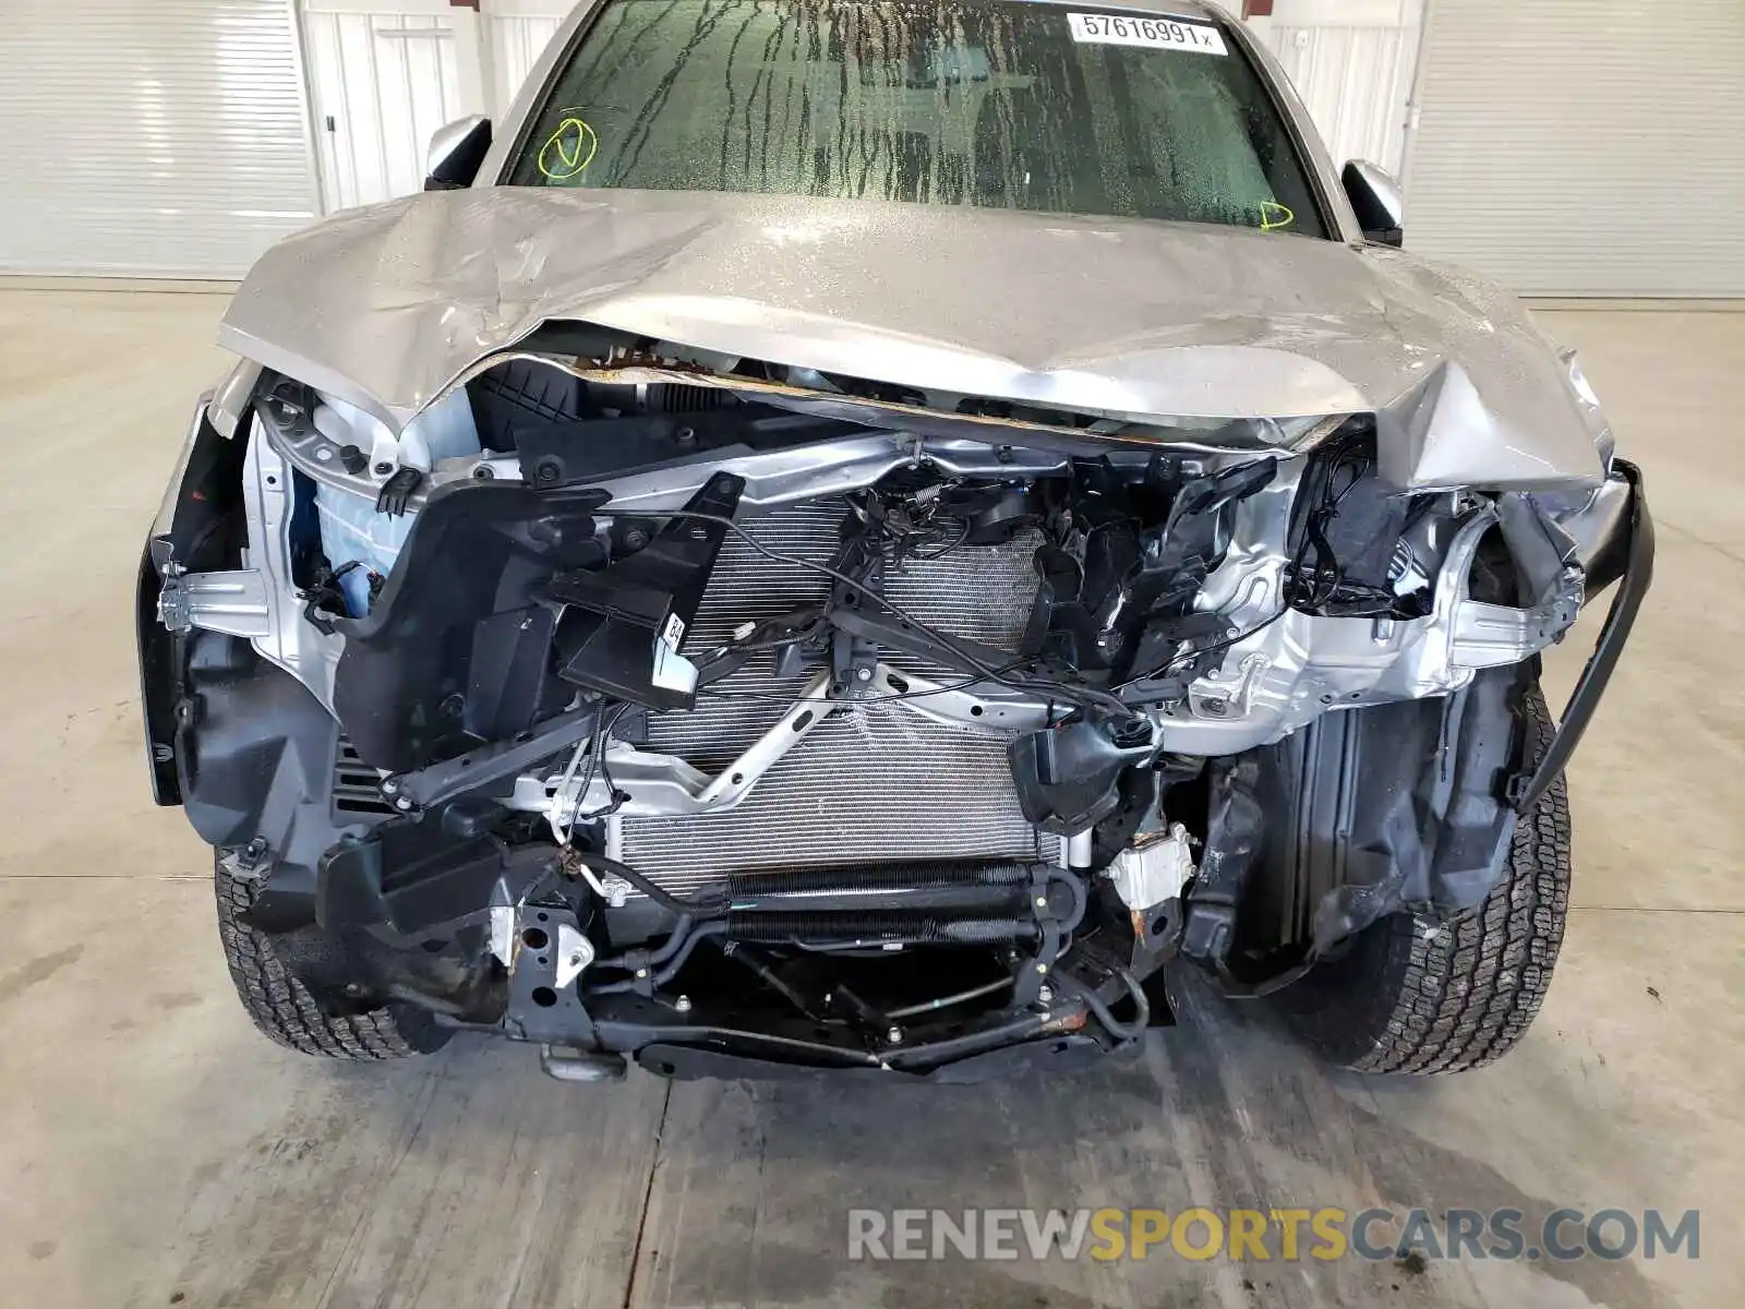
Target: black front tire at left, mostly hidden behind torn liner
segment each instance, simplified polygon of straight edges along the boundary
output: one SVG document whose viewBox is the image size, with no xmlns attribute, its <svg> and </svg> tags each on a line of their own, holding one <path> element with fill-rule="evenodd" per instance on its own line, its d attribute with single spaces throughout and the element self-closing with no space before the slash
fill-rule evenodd
<svg viewBox="0 0 1745 1309">
<path fill-rule="evenodd" d="M 274 949 L 272 937 L 248 922 L 257 881 L 213 869 L 218 937 L 243 1009 L 267 1037 L 302 1054 L 330 1059 L 401 1059 L 429 1054 L 452 1035 L 419 1009 L 389 1005 L 359 1014 L 330 1014 Z"/>
</svg>

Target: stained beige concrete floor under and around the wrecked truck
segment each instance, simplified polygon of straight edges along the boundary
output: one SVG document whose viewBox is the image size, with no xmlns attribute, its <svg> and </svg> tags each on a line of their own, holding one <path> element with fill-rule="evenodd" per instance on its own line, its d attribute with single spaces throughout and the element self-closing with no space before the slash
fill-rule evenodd
<svg viewBox="0 0 1745 1309">
<path fill-rule="evenodd" d="M 1574 766 L 1569 939 L 1462 1079 L 1330 1073 L 1195 986 L 1138 1066 L 982 1089 L 565 1087 L 530 1049 L 328 1066 L 257 1037 L 206 855 L 141 768 L 131 593 L 204 295 L 0 291 L 0 1302 L 1738 1304 L 1745 314 L 1557 314 L 1659 574 Z M 1583 620 L 1591 632 L 1593 618 Z M 1579 644 L 1579 642 L 1576 642 Z M 1551 658 L 1567 688 L 1579 651 Z M 1696 1262 L 848 1264 L 855 1204 L 1703 1211 Z"/>
</svg>

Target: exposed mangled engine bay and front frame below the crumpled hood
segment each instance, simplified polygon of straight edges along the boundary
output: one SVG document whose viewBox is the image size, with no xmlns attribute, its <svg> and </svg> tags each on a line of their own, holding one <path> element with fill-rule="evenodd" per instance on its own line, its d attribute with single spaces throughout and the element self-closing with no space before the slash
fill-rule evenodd
<svg viewBox="0 0 1745 1309">
<path fill-rule="evenodd" d="M 208 721 L 265 695 L 250 660 L 316 710 L 244 820 L 218 738 L 183 785 L 239 874 L 272 869 L 262 918 L 375 977 L 323 991 L 318 951 L 316 993 L 440 1005 L 576 1077 L 937 1073 L 1131 1044 L 1171 958 L 1267 986 L 1488 885 L 1520 744 L 1485 716 L 1593 581 L 1546 503 L 1389 487 L 1365 415 L 1162 440 L 674 363 L 522 353 L 398 435 L 267 374 L 243 567 L 154 555 Z M 1347 834 L 1412 805 L 1433 836 L 1366 895 L 1281 895 L 1269 789 L 1305 730 L 1387 705 L 1399 777 Z M 1412 784 L 1461 731 L 1485 768 Z"/>
</svg>

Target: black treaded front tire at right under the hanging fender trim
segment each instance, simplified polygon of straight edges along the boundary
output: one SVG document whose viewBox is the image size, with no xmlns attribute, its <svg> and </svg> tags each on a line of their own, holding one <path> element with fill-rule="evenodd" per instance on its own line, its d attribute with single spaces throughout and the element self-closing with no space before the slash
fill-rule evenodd
<svg viewBox="0 0 1745 1309">
<path fill-rule="evenodd" d="M 1522 721 L 1537 759 L 1555 733 L 1534 682 Z M 1396 913 L 1276 998 L 1335 1063 L 1365 1073 L 1455 1073 L 1508 1054 L 1551 986 L 1570 874 L 1569 791 L 1560 777 L 1515 829 L 1480 906 L 1450 923 Z"/>
</svg>

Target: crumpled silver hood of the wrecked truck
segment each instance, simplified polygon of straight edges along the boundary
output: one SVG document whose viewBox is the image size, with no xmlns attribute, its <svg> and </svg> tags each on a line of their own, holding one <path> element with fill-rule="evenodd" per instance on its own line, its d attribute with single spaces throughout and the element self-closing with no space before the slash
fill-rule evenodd
<svg viewBox="0 0 1745 1309">
<path fill-rule="evenodd" d="M 1375 412 L 1399 485 L 1604 476 L 1508 291 L 1386 248 L 879 201 L 490 187 L 270 250 L 220 344 L 400 428 L 550 319 L 1157 419 Z"/>
</svg>

